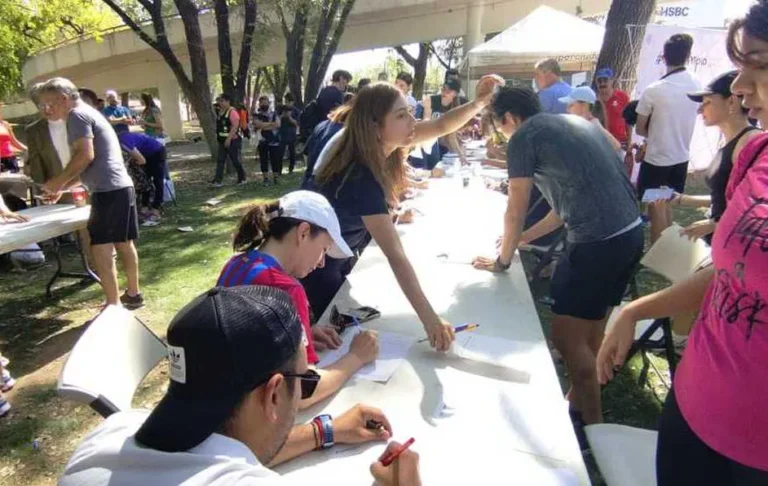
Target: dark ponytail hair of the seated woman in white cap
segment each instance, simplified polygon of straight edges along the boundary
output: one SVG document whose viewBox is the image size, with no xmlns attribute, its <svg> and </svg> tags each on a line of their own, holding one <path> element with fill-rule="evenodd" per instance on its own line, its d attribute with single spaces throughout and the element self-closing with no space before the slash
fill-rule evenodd
<svg viewBox="0 0 768 486">
<path fill-rule="evenodd" d="M 308 221 L 283 217 L 280 201 L 252 206 L 237 225 L 232 248 L 238 252 L 245 252 L 258 248 L 269 238 L 280 241 L 301 223 L 309 225 L 309 234 L 312 238 L 316 238 L 325 231 Z"/>
</svg>

